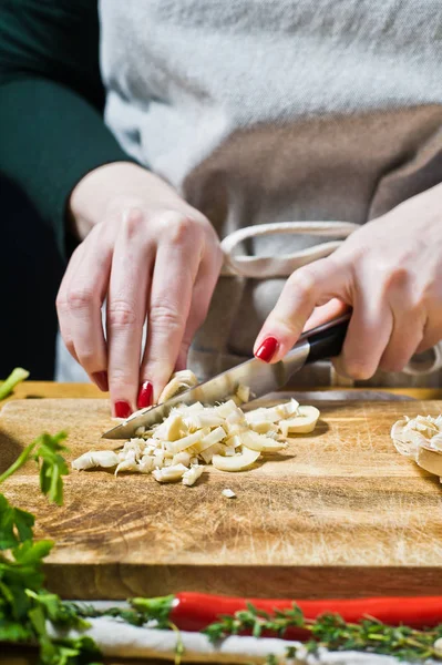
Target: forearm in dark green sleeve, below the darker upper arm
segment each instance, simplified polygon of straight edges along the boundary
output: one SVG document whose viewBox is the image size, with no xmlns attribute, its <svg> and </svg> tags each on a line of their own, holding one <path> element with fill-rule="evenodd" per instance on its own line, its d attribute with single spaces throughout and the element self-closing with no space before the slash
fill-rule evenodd
<svg viewBox="0 0 442 665">
<path fill-rule="evenodd" d="M 72 190 L 90 171 L 124 160 L 100 113 L 72 90 L 38 78 L 0 85 L 0 171 L 53 227 L 61 250 Z"/>
</svg>

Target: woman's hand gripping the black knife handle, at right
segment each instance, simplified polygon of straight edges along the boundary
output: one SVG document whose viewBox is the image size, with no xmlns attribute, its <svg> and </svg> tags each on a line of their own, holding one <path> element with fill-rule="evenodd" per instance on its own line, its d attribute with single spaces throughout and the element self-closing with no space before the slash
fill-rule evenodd
<svg viewBox="0 0 442 665">
<path fill-rule="evenodd" d="M 287 280 L 255 344 L 280 360 L 304 329 L 352 307 L 336 366 L 353 379 L 401 371 L 442 339 L 442 185 L 353 233 L 331 256 Z"/>
</svg>

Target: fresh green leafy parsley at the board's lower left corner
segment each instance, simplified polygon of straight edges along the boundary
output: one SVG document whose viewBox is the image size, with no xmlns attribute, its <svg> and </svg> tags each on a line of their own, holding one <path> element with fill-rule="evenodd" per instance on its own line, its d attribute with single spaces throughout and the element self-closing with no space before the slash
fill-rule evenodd
<svg viewBox="0 0 442 665">
<path fill-rule="evenodd" d="M 8 480 L 28 460 L 40 468 L 40 488 L 51 502 L 63 502 L 63 475 L 68 473 L 62 452 L 65 432 L 38 437 L 0 475 Z M 81 665 L 96 663 L 100 651 L 89 636 L 52 640 L 47 621 L 64 628 L 89 626 L 82 616 L 59 596 L 44 590 L 43 560 L 52 541 L 34 541 L 34 516 L 13 507 L 0 493 L 0 642 L 31 643 L 40 649 L 42 665 Z"/>
</svg>

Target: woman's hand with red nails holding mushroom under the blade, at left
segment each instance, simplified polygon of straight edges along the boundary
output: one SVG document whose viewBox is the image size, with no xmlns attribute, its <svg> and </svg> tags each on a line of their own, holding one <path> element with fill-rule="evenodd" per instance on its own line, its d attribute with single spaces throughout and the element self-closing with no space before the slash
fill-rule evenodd
<svg viewBox="0 0 442 665">
<path fill-rule="evenodd" d="M 219 276 L 219 242 L 202 213 L 131 163 L 88 174 L 72 192 L 70 213 L 82 242 L 56 298 L 61 335 L 91 379 L 109 386 L 113 415 L 125 418 L 155 401 L 186 366 Z"/>
</svg>

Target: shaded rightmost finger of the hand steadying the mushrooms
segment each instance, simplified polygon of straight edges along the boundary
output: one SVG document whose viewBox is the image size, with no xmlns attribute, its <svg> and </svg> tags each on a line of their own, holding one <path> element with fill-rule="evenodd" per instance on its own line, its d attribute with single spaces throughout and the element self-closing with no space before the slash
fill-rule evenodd
<svg viewBox="0 0 442 665">
<path fill-rule="evenodd" d="M 210 252 L 199 266 L 199 270 L 193 287 L 192 304 L 175 365 L 175 371 L 186 369 L 187 367 L 188 349 L 191 348 L 191 344 L 196 331 L 198 328 L 201 328 L 206 319 L 212 296 L 219 277 L 222 263 L 223 257 L 216 249 Z"/>
</svg>

